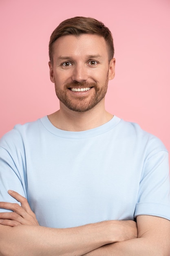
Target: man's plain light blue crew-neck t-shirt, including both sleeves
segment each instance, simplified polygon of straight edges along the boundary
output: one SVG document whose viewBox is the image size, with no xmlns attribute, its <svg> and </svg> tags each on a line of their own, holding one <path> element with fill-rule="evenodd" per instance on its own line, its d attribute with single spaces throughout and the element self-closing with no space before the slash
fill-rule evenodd
<svg viewBox="0 0 170 256">
<path fill-rule="evenodd" d="M 141 214 L 170 220 L 165 146 L 116 116 L 82 132 L 57 129 L 48 117 L 15 126 L 0 140 L 0 201 L 16 202 L 8 189 L 25 196 L 46 227 Z"/>
</svg>

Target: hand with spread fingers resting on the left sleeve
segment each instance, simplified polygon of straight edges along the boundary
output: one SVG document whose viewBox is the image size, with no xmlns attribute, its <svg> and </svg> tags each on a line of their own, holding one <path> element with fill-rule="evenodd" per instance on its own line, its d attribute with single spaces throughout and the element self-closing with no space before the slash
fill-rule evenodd
<svg viewBox="0 0 170 256">
<path fill-rule="evenodd" d="M 39 226 L 35 213 L 31 210 L 28 201 L 22 195 L 15 191 L 8 191 L 9 195 L 21 203 L 0 202 L 0 208 L 12 210 L 13 212 L 0 213 L 0 224 L 10 227 L 18 225 L 36 225 Z"/>
</svg>

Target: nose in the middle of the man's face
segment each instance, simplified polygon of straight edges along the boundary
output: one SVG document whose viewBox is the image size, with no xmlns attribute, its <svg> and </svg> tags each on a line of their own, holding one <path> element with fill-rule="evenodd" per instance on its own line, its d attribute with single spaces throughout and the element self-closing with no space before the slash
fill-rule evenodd
<svg viewBox="0 0 170 256">
<path fill-rule="evenodd" d="M 84 65 L 75 65 L 72 73 L 72 80 L 77 82 L 83 82 L 88 79 L 88 72 Z"/>
</svg>

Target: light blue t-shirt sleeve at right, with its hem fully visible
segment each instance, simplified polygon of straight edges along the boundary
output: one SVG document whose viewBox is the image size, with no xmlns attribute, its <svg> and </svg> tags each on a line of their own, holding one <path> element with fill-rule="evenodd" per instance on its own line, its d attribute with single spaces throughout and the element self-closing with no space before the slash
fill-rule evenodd
<svg viewBox="0 0 170 256">
<path fill-rule="evenodd" d="M 170 220 L 170 175 L 166 150 L 152 152 L 146 159 L 139 184 L 135 218 L 138 215 Z"/>
</svg>

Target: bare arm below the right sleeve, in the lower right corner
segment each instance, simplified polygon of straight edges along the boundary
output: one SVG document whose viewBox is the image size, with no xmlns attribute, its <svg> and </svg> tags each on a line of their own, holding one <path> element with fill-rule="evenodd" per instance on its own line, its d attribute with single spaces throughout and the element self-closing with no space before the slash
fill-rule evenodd
<svg viewBox="0 0 170 256">
<path fill-rule="evenodd" d="M 138 238 L 104 245 L 84 256 L 170 256 L 170 221 L 137 216 Z"/>
</svg>

